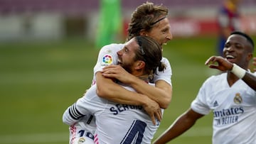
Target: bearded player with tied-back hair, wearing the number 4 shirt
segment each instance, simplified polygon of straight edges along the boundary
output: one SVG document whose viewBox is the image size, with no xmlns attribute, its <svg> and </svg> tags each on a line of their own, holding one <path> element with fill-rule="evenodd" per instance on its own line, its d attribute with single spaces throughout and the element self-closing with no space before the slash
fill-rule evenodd
<svg viewBox="0 0 256 144">
<path fill-rule="evenodd" d="M 135 36 L 117 54 L 119 65 L 142 79 L 145 84 L 154 77 L 156 68 L 159 72 L 165 68 L 161 62 L 161 45 L 150 37 Z M 134 91 L 126 84 L 118 84 L 124 89 Z M 119 104 L 100 98 L 96 94 L 96 89 L 97 84 L 90 87 L 85 96 L 65 111 L 64 123 L 73 125 L 91 113 L 96 119 L 97 126 L 95 143 L 151 143 L 159 127 L 159 121 L 154 125 L 142 106 Z M 142 95 L 142 98 L 144 97 L 146 96 Z"/>
</svg>

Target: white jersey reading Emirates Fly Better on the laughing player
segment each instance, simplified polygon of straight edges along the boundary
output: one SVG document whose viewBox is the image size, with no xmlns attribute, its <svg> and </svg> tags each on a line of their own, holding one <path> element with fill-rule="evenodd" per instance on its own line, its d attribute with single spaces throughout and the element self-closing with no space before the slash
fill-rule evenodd
<svg viewBox="0 0 256 144">
<path fill-rule="evenodd" d="M 256 92 L 242 79 L 230 87 L 227 73 L 209 77 L 191 109 L 213 111 L 213 144 L 256 143 Z"/>
</svg>

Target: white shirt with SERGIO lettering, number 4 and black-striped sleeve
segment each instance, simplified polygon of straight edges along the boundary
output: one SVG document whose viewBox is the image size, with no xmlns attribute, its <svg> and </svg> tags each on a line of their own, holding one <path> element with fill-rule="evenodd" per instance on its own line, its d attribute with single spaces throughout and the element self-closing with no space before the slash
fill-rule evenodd
<svg viewBox="0 0 256 144">
<path fill-rule="evenodd" d="M 133 90 L 131 87 L 125 88 Z M 151 143 L 159 128 L 159 121 L 156 120 L 154 126 L 142 106 L 107 101 L 97 96 L 96 89 L 96 85 L 90 87 L 85 96 L 65 111 L 65 116 L 73 119 L 92 113 L 97 125 L 95 143 Z"/>
</svg>

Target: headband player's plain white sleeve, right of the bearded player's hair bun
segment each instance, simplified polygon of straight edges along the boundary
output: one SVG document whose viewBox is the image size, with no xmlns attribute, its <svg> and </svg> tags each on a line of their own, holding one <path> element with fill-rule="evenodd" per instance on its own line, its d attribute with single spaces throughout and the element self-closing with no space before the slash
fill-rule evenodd
<svg viewBox="0 0 256 144">
<path fill-rule="evenodd" d="M 163 72 L 159 72 L 159 70 L 157 69 L 156 74 L 154 75 L 153 82 L 156 82 L 158 80 L 164 80 L 165 82 L 171 85 L 172 72 L 171 72 L 170 62 L 168 59 L 166 59 L 166 57 L 163 57 L 161 62 L 164 63 L 164 65 L 166 66 L 166 69 Z"/>
</svg>

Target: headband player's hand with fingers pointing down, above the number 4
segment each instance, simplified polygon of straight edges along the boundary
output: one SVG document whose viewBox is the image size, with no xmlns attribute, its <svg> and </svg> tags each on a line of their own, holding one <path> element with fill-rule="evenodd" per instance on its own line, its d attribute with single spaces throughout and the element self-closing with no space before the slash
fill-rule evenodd
<svg viewBox="0 0 256 144">
<path fill-rule="evenodd" d="M 149 114 L 151 121 L 156 125 L 156 119 L 161 121 L 162 113 L 159 104 L 146 96 L 146 105 L 143 106 L 146 113 Z"/>
</svg>

